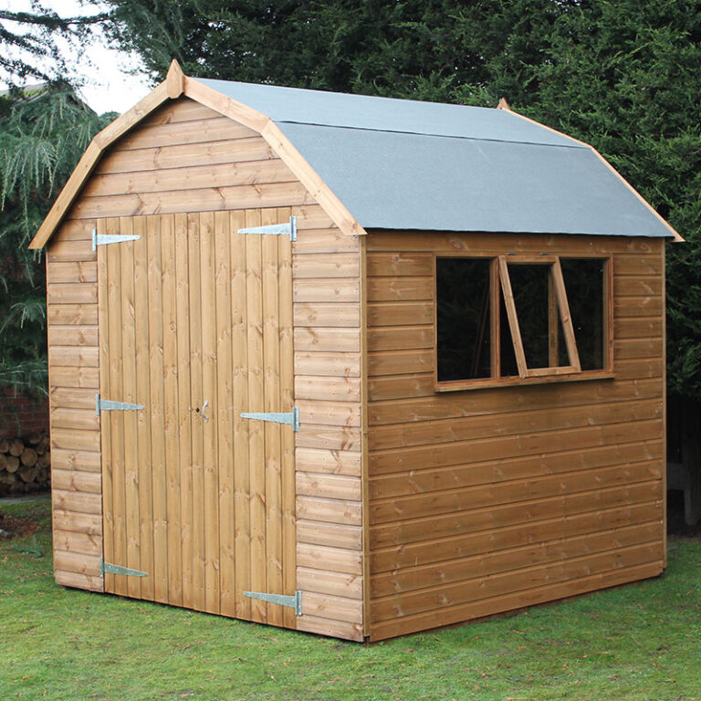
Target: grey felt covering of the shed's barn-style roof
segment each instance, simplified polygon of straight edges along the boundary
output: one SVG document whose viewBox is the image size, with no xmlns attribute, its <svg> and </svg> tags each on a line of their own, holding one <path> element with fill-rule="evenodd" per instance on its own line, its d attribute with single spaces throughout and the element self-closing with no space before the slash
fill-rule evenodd
<svg viewBox="0 0 701 701">
<path fill-rule="evenodd" d="M 507 110 L 201 82 L 275 121 L 366 229 L 672 235 L 589 146 Z"/>
</svg>

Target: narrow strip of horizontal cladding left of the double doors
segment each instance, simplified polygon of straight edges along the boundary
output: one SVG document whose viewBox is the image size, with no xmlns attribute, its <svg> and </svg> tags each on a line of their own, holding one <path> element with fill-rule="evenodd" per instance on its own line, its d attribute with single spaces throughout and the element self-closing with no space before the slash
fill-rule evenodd
<svg viewBox="0 0 701 701">
<path fill-rule="evenodd" d="M 96 221 L 67 221 L 47 251 L 48 387 L 54 572 L 103 591 Z"/>
</svg>

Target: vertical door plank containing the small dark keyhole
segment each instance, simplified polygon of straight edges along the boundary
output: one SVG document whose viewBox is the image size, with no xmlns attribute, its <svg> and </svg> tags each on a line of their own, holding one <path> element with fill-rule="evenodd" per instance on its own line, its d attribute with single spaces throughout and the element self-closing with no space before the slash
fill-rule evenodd
<svg viewBox="0 0 701 701">
<path fill-rule="evenodd" d="M 204 596 L 204 475 L 202 413 L 202 307 L 200 289 L 200 221 L 188 214 L 188 260 L 190 271 L 190 419 L 193 474 L 193 607 L 205 610 Z M 200 411 L 198 412 L 197 409 Z"/>
</svg>

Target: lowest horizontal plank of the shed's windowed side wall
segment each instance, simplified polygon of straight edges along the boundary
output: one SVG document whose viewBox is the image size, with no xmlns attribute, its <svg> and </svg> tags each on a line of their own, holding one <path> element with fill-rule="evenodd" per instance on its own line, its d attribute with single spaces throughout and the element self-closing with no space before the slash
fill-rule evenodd
<svg viewBox="0 0 701 701">
<path fill-rule="evenodd" d="M 662 560 L 655 560 L 633 567 L 600 572 L 578 579 L 559 581 L 528 591 L 516 591 L 507 595 L 489 597 L 476 602 L 445 607 L 418 615 L 397 617 L 382 623 L 373 623 L 371 625 L 371 640 L 383 640 L 396 635 L 424 631 L 432 627 L 513 611 L 538 603 L 553 602 L 588 591 L 598 591 L 606 587 L 654 577 L 662 570 Z"/>
</svg>

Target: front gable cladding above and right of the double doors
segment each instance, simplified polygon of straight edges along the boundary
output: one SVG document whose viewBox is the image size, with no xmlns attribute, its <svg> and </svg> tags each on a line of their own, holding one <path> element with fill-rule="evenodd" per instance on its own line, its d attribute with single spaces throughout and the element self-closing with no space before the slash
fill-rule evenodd
<svg viewBox="0 0 701 701">
<path fill-rule="evenodd" d="M 68 225 L 137 214 L 275 214 L 279 207 L 297 216 L 299 230 L 292 259 L 301 421 L 296 576 L 305 614 L 296 627 L 357 640 L 363 633 L 358 239 L 340 233 L 259 134 L 191 99 L 168 103 L 110 149 Z"/>
</svg>

